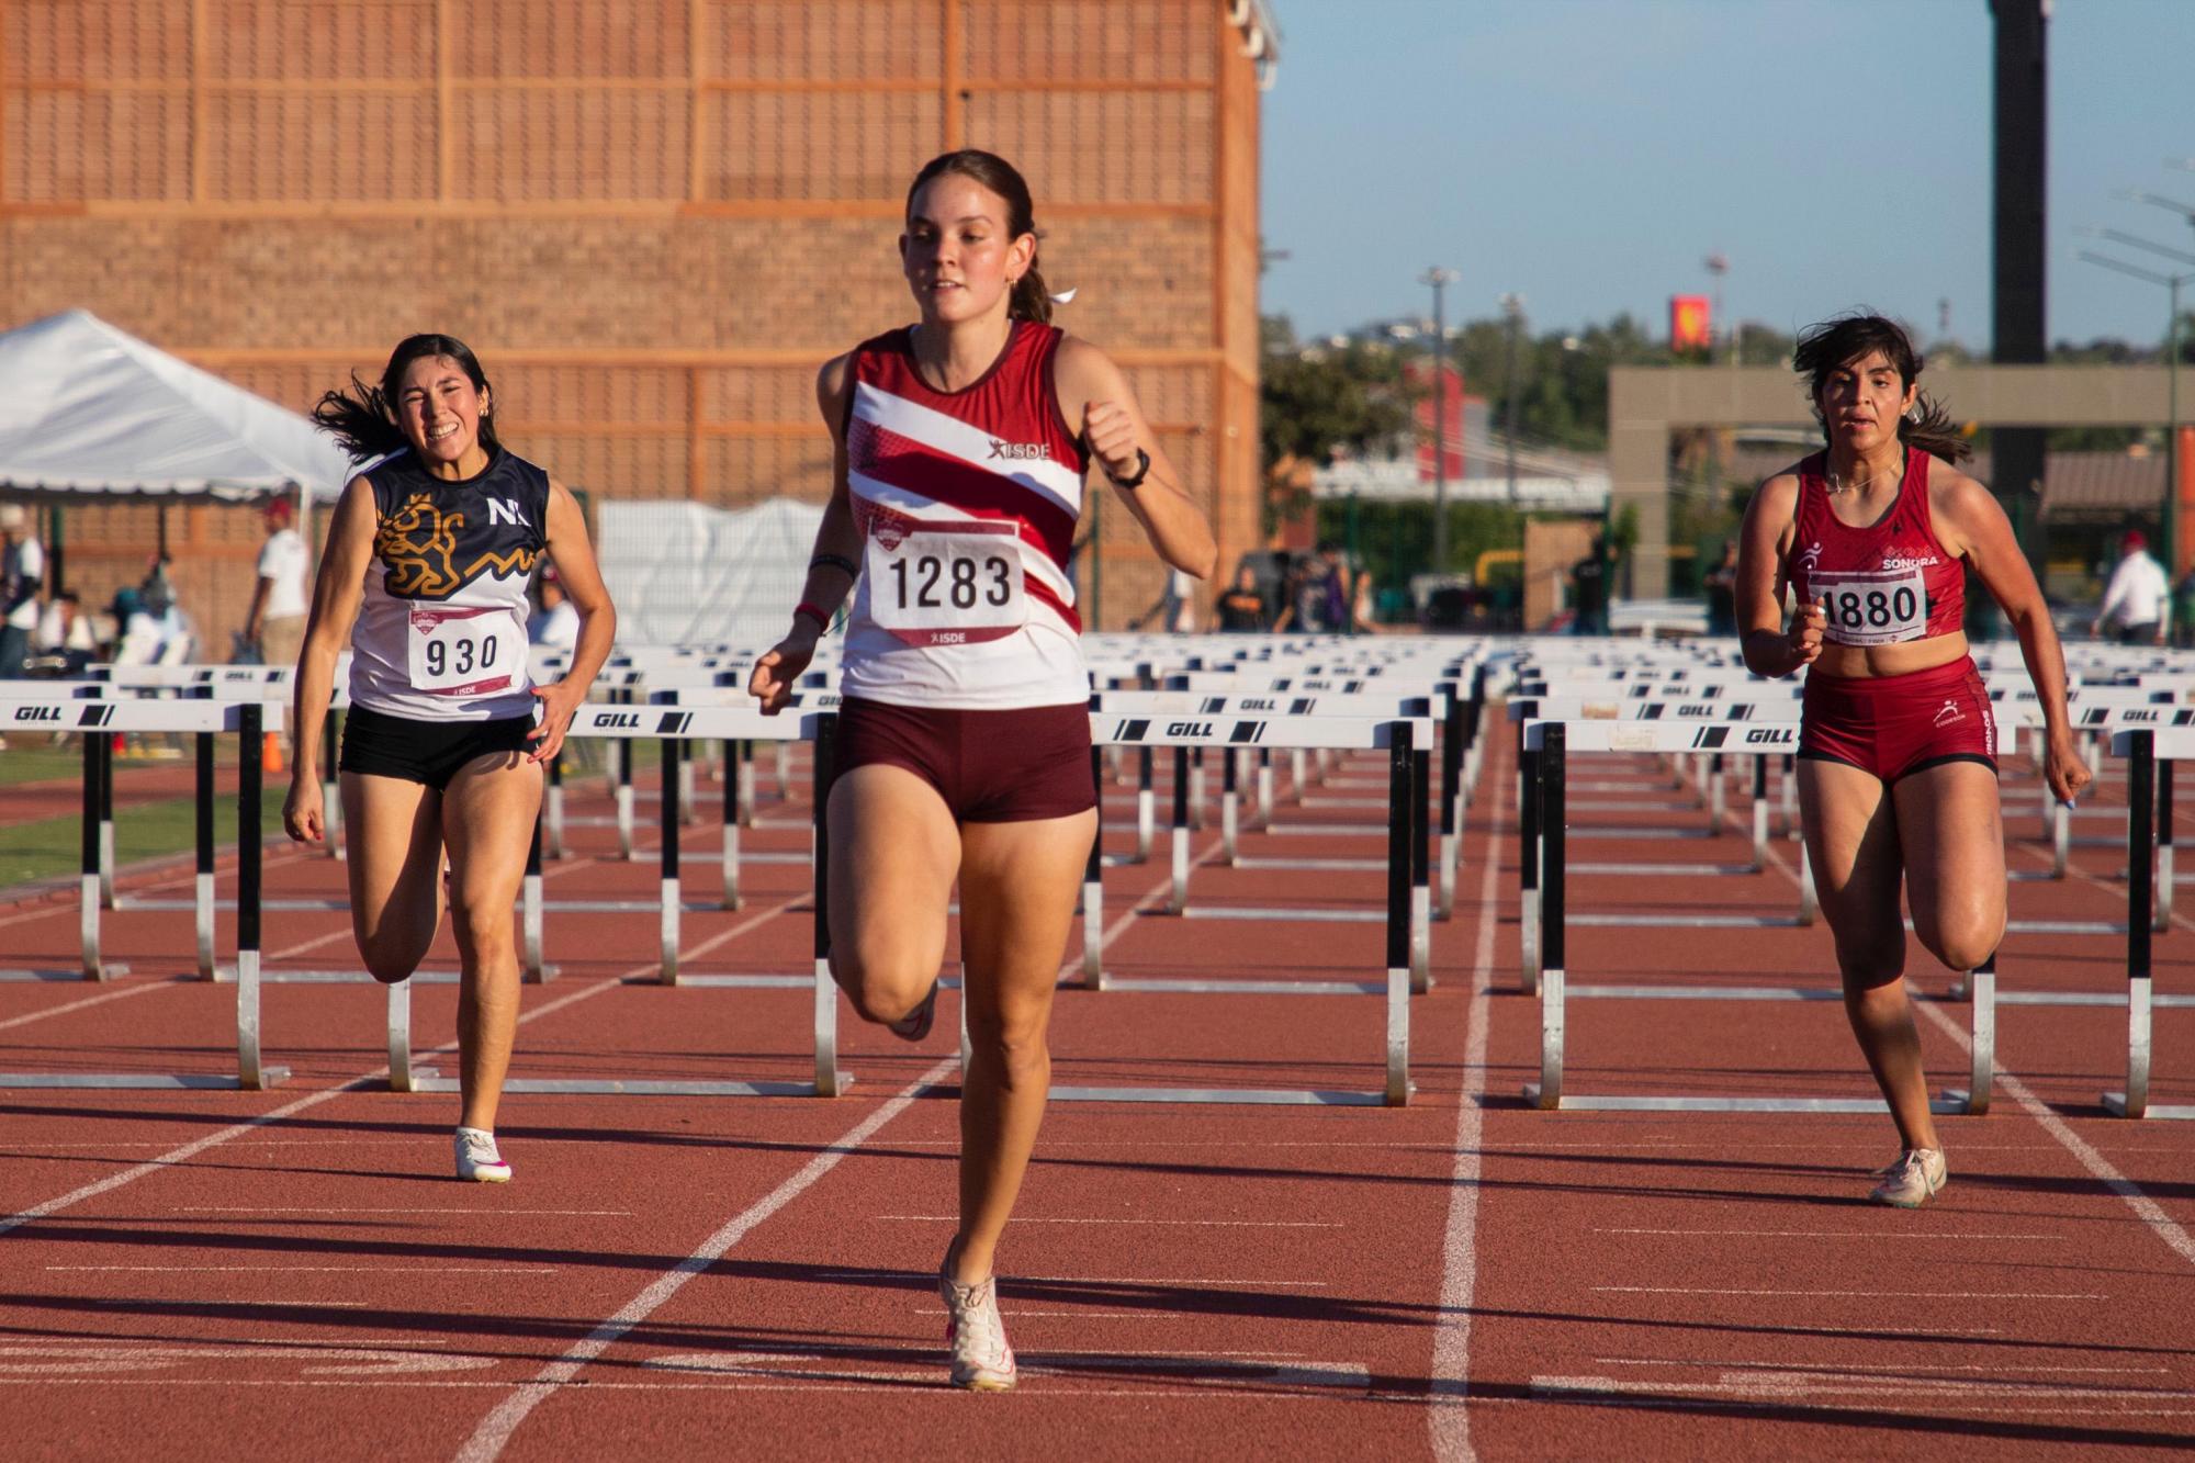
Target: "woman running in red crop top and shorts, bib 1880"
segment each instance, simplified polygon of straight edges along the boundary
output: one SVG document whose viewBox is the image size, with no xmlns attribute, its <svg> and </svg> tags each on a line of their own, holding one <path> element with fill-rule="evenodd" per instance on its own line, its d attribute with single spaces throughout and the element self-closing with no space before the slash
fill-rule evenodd
<svg viewBox="0 0 2195 1463">
<path fill-rule="evenodd" d="M 2004 936 L 1997 734 L 1967 655 L 1967 567 L 2019 637 L 2050 791 L 2072 800 L 2090 771 L 2041 589 L 2004 510 L 1951 468 L 1967 444 L 1921 395 L 1912 340 L 1892 321 L 1850 314 L 1800 336 L 1793 365 L 1828 448 L 1765 481 L 1745 510 L 1738 630 L 1756 674 L 1809 668 L 1800 824 L 1844 1010 L 1903 1144 L 1870 1197 L 1918 1208 L 1947 1166 L 1905 997 L 1901 876 L 1914 934 L 1945 967 L 1978 967 Z"/>
</svg>

